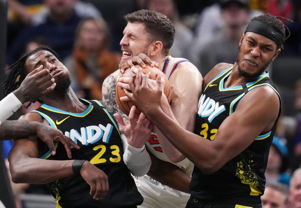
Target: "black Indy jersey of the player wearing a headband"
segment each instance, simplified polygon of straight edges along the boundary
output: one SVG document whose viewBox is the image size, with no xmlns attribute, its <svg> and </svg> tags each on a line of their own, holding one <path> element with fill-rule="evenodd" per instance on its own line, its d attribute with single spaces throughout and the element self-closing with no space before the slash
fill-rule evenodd
<svg viewBox="0 0 301 208">
<path fill-rule="evenodd" d="M 267 85 L 277 93 L 268 72 L 244 86 L 224 88 L 224 81 L 231 74 L 232 68 L 215 77 L 199 99 L 194 133 L 208 140 L 214 139 L 221 123 L 235 111 L 235 103 L 250 90 Z M 277 95 L 279 96 L 278 93 Z M 190 184 L 191 195 L 207 202 L 222 200 L 227 203 L 260 204 L 260 196 L 265 189 L 264 172 L 276 123 L 272 131 L 258 135 L 246 150 L 215 173 L 205 175 L 195 166 Z"/>
</svg>

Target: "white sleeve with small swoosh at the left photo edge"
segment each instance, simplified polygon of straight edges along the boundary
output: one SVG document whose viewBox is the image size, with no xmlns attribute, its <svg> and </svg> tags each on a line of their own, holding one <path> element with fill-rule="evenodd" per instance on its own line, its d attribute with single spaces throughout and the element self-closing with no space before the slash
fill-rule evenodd
<svg viewBox="0 0 301 208">
<path fill-rule="evenodd" d="M 0 101 L 0 124 L 13 115 L 21 106 L 22 103 L 13 93 L 3 98 Z"/>
</svg>

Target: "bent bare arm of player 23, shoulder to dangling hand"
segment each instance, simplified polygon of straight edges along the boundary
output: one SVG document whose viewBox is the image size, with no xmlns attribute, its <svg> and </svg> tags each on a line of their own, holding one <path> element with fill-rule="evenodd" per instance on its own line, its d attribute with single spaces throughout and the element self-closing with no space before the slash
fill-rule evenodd
<svg viewBox="0 0 301 208">
<path fill-rule="evenodd" d="M 39 114 L 29 113 L 20 119 L 47 123 Z M 46 132 L 47 134 L 47 132 Z M 74 160 L 44 160 L 39 149 L 43 143 L 29 138 L 14 141 L 13 148 L 8 154 L 8 161 L 14 183 L 45 184 L 74 174 Z M 107 175 L 95 165 L 85 161 L 80 168 L 79 177 L 90 185 L 90 195 L 93 199 L 102 199 L 108 192 Z"/>
</svg>

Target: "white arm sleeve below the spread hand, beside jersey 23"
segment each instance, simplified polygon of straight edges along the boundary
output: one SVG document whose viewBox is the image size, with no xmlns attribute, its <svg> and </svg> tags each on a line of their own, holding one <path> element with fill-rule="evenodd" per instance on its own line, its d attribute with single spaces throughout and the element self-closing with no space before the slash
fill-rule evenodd
<svg viewBox="0 0 301 208">
<path fill-rule="evenodd" d="M 146 151 L 145 146 L 142 148 L 135 148 L 128 144 L 124 135 L 121 135 L 123 144 L 123 160 L 129 171 L 134 176 L 144 176 L 150 169 L 150 155 Z"/>
</svg>

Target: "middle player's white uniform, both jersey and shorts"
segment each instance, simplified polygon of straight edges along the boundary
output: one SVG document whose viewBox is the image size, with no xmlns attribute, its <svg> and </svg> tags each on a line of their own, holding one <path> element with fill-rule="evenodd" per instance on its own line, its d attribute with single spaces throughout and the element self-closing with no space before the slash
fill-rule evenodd
<svg viewBox="0 0 301 208">
<path fill-rule="evenodd" d="M 177 68 L 177 65 L 183 61 L 188 60 L 168 56 L 165 60 L 162 72 L 169 79 L 172 72 Z M 160 160 L 172 163 L 163 152 L 155 133 L 151 133 L 150 139 L 145 143 L 145 147 Z M 172 164 L 181 168 L 187 175 L 191 176 L 194 165 L 187 158 L 179 163 Z M 172 189 L 147 175 L 138 178 L 134 177 L 134 179 L 138 191 L 144 198 L 142 205 L 139 205 L 138 208 L 185 208 L 190 197 L 190 194 Z"/>
</svg>

